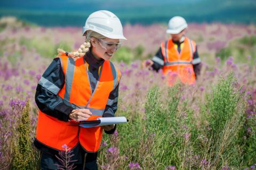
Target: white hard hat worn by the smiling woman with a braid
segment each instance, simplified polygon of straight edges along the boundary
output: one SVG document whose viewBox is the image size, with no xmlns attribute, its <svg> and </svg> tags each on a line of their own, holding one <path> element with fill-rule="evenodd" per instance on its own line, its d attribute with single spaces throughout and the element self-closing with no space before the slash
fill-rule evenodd
<svg viewBox="0 0 256 170">
<path fill-rule="evenodd" d="M 112 39 L 126 39 L 123 35 L 121 21 L 110 11 L 101 10 L 93 12 L 83 27 L 83 36 L 87 30 L 92 30 Z"/>
</svg>

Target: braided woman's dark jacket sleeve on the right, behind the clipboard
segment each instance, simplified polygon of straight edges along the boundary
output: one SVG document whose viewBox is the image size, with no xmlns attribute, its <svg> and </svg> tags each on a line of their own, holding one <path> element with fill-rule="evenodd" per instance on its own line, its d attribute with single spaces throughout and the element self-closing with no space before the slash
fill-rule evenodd
<svg viewBox="0 0 256 170">
<path fill-rule="evenodd" d="M 115 113 L 117 111 L 117 101 L 118 101 L 118 89 L 119 84 L 116 86 L 116 88 L 110 92 L 108 97 L 108 103 L 106 105 L 105 111 L 102 115 L 102 117 L 114 117 Z M 105 131 L 107 134 L 113 134 L 116 130 L 116 125 L 114 129 L 110 131 Z"/>
</svg>

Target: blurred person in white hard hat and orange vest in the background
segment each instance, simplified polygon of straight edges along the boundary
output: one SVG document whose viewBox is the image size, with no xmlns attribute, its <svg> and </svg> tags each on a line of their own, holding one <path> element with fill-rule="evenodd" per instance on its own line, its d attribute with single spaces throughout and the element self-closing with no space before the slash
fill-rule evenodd
<svg viewBox="0 0 256 170">
<path fill-rule="evenodd" d="M 163 69 L 169 86 L 177 80 L 185 84 L 194 84 L 200 74 L 201 60 L 198 56 L 195 41 L 185 36 L 188 24 L 181 16 L 170 19 L 166 33 L 171 38 L 161 44 L 156 55 L 143 62 L 143 67 L 152 67 L 153 70 Z"/>
</svg>

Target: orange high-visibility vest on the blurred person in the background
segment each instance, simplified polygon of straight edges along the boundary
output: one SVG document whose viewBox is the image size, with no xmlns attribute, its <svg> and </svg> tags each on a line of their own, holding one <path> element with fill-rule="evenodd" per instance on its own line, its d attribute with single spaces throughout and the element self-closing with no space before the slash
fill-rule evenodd
<svg viewBox="0 0 256 170">
<path fill-rule="evenodd" d="M 172 39 L 169 39 L 161 44 L 161 49 L 164 56 L 163 74 L 166 75 L 169 86 L 172 86 L 177 79 L 185 84 L 194 84 L 196 77 L 192 61 L 196 43 L 185 37 L 179 53 Z"/>
</svg>

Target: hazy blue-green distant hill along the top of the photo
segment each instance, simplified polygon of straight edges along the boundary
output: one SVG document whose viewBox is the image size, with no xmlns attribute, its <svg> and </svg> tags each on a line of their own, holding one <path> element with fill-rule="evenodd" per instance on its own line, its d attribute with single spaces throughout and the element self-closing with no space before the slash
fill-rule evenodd
<svg viewBox="0 0 256 170">
<path fill-rule="evenodd" d="M 256 23 L 255 0 L 1 0 L 0 16 L 13 15 L 45 26 L 81 26 L 97 10 L 114 12 L 123 23 L 164 23 L 174 15 L 188 22 Z"/>
</svg>

